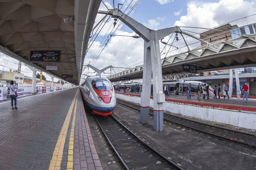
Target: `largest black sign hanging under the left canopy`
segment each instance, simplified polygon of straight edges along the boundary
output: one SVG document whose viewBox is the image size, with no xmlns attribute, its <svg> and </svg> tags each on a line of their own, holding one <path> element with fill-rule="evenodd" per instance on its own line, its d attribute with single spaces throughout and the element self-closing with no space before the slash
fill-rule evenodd
<svg viewBox="0 0 256 170">
<path fill-rule="evenodd" d="M 60 62 L 61 50 L 30 51 L 29 62 Z"/>
</svg>

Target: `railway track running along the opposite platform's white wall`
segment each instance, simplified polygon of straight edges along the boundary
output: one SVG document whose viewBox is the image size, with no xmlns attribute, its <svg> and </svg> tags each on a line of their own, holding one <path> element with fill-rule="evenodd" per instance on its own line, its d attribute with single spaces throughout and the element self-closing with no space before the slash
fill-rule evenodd
<svg viewBox="0 0 256 170">
<path fill-rule="evenodd" d="M 140 105 L 136 105 L 134 103 L 126 102 L 120 99 L 117 99 L 116 102 L 122 107 L 125 107 L 131 111 L 140 111 Z M 149 111 L 149 114 L 151 116 L 154 116 L 151 109 Z M 216 139 L 256 149 L 256 136 L 249 133 L 243 133 L 236 130 L 217 127 L 214 125 L 207 125 L 201 122 L 195 122 L 186 118 L 181 118 L 166 113 L 164 113 L 163 119 L 167 122 L 171 122 L 172 124 L 187 128 L 189 130 L 195 130 L 197 132 L 204 133 Z"/>
</svg>

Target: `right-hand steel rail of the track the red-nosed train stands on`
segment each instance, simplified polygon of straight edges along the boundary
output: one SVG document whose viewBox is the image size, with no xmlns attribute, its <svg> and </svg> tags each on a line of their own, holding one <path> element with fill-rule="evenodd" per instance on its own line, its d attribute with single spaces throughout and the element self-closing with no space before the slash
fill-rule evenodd
<svg viewBox="0 0 256 170">
<path fill-rule="evenodd" d="M 184 170 L 183 168 L 179 167 L 177 164 L 175 164 L 173 161 L 169 160 L 168 158 L 166 158 L 165 156 L 163 156 L 163 154 L 159 153 L 157 150 L 155 150 L 153 147 L 149 146 L 147 143 L 145 143 L 142 139 L 140 139 L 139 136 L 137 136 L 135 133 L 133 133 L 130 129 L 128 129 L 125 125 L 123 125 L 119 120 L 117 120 L 112 114 L 111 114 L 112 118 L 119 123 L 119 125 L 121 125 L 123 128 L 125 128 L 125 130 L 127 130 L 132 136 L 135 136 L 137 138 L 137 140 L 139 140 L 141 143 L 143 143 L 143 145 L 145 145 L 149 150 L 151 150 L 151 152 L 155 153 L 157 156 L 159 156 L 161 159 L 163 159 L 163 161 L 165 161 L 167 164 L 169 164 L 170 166 L 174 166 L 177 170 Z"/>
</svg>

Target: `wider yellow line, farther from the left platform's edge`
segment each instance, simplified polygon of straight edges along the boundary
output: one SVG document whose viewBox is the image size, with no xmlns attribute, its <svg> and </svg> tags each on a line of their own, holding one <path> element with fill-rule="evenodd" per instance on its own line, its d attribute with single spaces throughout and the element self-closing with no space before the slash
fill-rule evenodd
<svg viewBox="0 0 256 170">
<path fill-rule="evenodd" d="M 60 170 L 61 169 L 61 160 L 63 157 L 64 144 L 65 144 L 65 140 L 67 137 L 67 130 L 68 130 L 68 126 L 70 124 L 70 118 L 71 118 L 71 115 L 73 112 L 74 104 L 75 104 L 75 101 L 77 101 L 77 96 L 78 96 L 77 94 L 78 94 L 78 91 L 76 92 L 76 95 L 70 105 L 66 119 L 61 128 L 61 133 L 59 134 L 58 142 L 56 143 L 54 152 L 52 154 L 52 160 L 50 162 L 49 170 Z M 75 110 L 75 112 L 76 112 L 76 110 Z M 70 136 L 71 136 L 71 134 L 70 134 Z M 73 169 L 73 167 L 72 167 L 72 169 Z"/>
</svg>

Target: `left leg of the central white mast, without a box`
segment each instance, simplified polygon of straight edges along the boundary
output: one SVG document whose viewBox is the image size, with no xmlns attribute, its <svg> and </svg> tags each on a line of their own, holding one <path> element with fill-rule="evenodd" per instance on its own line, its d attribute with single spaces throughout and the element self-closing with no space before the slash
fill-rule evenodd
<svg viewBox="0 0 256 170">
<path fill-rule="evenodd" d="M 144 67 L 143 67 L 143 82 L 142 82 L 142 93 L 140 99 L 140 123 L 148 123 L 148 112 L 150 104 L 151 94 L 151 77 L 152 77 L 152 66 L 151 66 L 151 54 L 150 49 L 146 47 L 144 43 Z"/>
</svg>

